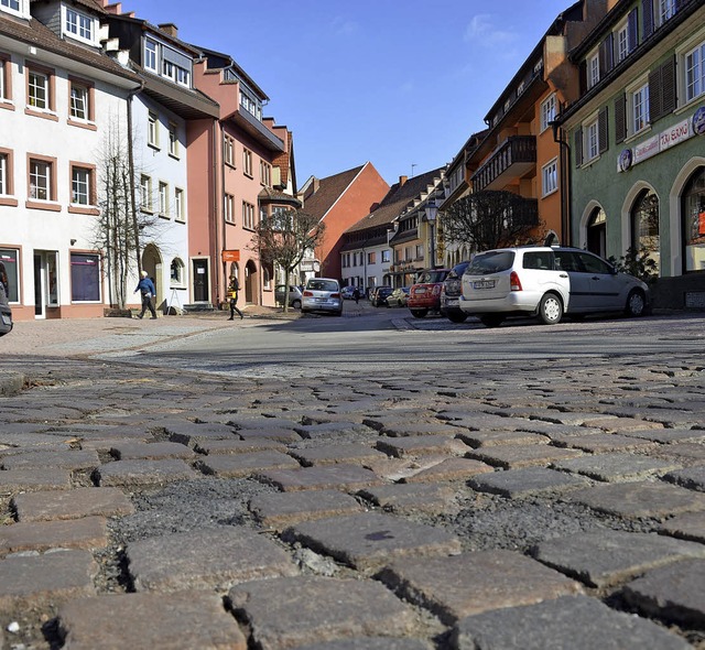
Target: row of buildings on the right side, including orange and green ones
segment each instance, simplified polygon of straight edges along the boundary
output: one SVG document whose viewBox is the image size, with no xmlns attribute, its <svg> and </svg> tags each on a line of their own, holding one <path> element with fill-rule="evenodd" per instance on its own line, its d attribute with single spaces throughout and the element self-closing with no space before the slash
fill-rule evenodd
<svg viewBox="0 0 705 650">
<path fill-rule="evenodd" d="M 529 199 L 534 234 L 655 263 L 657 303 L 705 306 L 705 2 L 579 0 L 452 162 L 400 178 L 344 234 L 343 278 L 409 284 L 474 252 L 443 218 L 469 193 Z"/>
</svg>

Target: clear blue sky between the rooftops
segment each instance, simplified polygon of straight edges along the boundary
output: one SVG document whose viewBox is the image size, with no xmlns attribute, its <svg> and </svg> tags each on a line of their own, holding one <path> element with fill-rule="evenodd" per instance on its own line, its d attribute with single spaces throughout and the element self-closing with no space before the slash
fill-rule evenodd
<svg viewBox="0 0 705 650">
<path fill-rule="evenodd" d="M 390 184 L 458 153 L 568 0 L 122 0 L 230 54 L 294 133 L 299 185 L 370 161 Z M 196 10 L 194 9 L 196 8 Z"/>
</svg>

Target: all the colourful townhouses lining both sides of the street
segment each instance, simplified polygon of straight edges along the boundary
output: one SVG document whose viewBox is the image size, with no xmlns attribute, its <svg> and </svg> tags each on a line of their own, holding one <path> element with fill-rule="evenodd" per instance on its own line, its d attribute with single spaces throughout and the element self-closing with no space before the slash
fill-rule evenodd
<svg viewBox="0 0 705 650">
<path fill-rule="evenodd" d="M 252 235 L 291 208 L 325 224 L 300 281 L 406 285 L 474 252 L 447 240 L 444 216 L 496 189 L 527 199 L 546 243 L 643 251 L 663 306 L 703 306 L 704 24 L 704 0 L 578 0 L 447 165 L 390 186 L 367 162 L 299 187 L 292 131 L 264 117 L 268 96 L 229 54 L 109 0 L 0 0 L 13 314 L 137 304 L 141 269 L 166 313 L 217 305 L 231 274 L 247 303 L 274 305 L 285 279 Z"/>
</svg>

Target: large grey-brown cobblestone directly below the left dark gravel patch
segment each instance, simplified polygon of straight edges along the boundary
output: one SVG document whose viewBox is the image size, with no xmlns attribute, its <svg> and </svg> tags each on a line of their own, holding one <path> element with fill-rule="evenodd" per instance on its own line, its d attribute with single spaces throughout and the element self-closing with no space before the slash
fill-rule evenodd
<svg viewBox="0 0 705 650">
<path fill-rule="evenodd" d="M 126 554 L 138 592 L 227 589 L 250 579 L 296 575 L 286 552 L 246 529 L 214 528 L 131 542 Z"/>
</svg>

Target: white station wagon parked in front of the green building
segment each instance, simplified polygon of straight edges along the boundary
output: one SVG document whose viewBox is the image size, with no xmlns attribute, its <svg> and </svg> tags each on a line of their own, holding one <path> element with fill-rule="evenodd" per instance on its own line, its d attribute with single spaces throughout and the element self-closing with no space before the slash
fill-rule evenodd
<svg viewBox="0 0 705 650">
<path fill-rule="evenodd" d="M 650 302 L 647 284 L 592 252 L 534 246 L 476 254 L 463 273 L 459 306 L 497 327 L 508 316 L 536 316 L 546 325 L 560 323 L 564 314 L 641 316 Z"/>
</svg>

